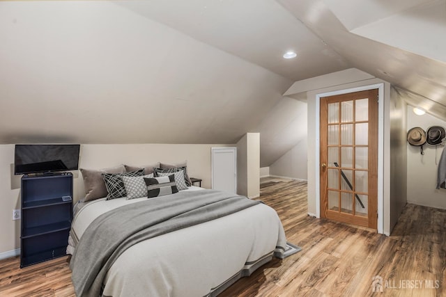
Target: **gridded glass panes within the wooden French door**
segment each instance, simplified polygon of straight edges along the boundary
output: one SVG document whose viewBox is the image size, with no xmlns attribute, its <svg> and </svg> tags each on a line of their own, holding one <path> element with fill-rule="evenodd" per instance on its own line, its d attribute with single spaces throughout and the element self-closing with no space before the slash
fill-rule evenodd
<svg viewBox="0 0 446 297">
<path fill-rule="evenodd" d="M 329 209 L 367 216 L 368 98 L 329 103 L 328 111 Z"/>
</svg>

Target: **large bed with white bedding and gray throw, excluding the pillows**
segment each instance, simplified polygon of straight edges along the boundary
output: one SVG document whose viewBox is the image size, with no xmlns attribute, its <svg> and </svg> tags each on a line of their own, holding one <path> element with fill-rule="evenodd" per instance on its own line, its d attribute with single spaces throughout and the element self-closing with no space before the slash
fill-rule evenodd
<svg viewBox="0 0 446 297">
<path fill-rule="evenodd" d="M 121 243 L 124 247 L 120 246 L 121 251 L 116 252 L 114 228 L 110 225 L 127 232 L 129 225 L 157 218 L 157 214 L 150 212 L 148 219 L 138 220 L 133 215 L 126 217 L 125 211 L 132 209 L 136 214 L 143 207 L 160 207 L 164 216 L 171 211 L 169 205 L 177 201 L 192 205 L 225 195 L 229 198 L 223 198 L 224 204 L 238 199 L 236 204 L 243 202 L 244 206 L 218 215 L 213 211 L 221 211 L 224 207 L 214 207 L 214 210 L 204 211 L 204 216 L 210 219 L 185 227 L 173 223 L 169 232 L 162 231 L 158 235 L 156 232 L 160 228 L 155 226 L 155 236 L 147 239 L 140 239 L 139 234 L 152 234 L 153 231 L 138 231 L 136 241 L 133 236 L 132 243 Z M 217 296 L 272 257 L 282 257 L 286 238 L 276 211 L 266 204 L 238 197 L 189 186 L 178 193 L 150 199 L 102 198 L 78 204 L 67 249 L 72 254 L 70 268 L 77 296 Z M 203 205 L 213 203 L 203 202 Z M 195 211 L 183 212 L 190 216 Z M 114 220 L 113 224 L 108 223 L 109 220 L 102 221 L 112 214 L 122 217 L 123 221 L 116 223 L 118 221 Z M 106 225 L 106 229 L 100 229 L 98 221 L 102 227 Z M 112 242 L 102 243 L 104 238 Z M 107 250 L 111 252 L 107 254 Z M 98 259 L 100 257 L 104 258 Z"/>
</svg>

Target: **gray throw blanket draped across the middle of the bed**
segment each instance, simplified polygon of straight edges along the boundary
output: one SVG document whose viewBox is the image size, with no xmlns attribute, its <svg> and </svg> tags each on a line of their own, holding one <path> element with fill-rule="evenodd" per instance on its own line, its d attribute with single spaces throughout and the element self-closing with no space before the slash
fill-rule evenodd
<svg viewBox="0 0 446 297">
<path fill-rule="evenodd" d="M 259 204 L 236 194 L 202 190 L 127 204 L 96 218 L 72 255 L 70 268 L 77 296 L 99 296 L 110 266 L 140 241 Z"/>
</svg>

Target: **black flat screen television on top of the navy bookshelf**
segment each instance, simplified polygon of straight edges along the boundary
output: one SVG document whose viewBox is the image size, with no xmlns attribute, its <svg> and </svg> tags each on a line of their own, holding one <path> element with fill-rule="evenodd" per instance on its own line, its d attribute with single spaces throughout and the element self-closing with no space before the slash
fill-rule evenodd
<svg viewBox="0 0 446 297">
<path fill-rule="evenodd" d="M 15 145 L 14 174 L 77 170 L 80 145 Z"/>
</svg>

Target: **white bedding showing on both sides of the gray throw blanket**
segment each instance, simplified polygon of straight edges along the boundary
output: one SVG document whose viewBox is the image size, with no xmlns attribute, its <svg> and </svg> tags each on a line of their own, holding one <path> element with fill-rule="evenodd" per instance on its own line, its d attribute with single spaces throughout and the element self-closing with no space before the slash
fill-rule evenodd
<svg viewBox="0 0 446 297">
<path fill-rule="evenodd" d="M 201 188 L 190 187 L 185 191 Z M 100 214 L 147 198 L 95 200 L 77 211 L 77 237 Z M 162 199 L 151 198 L 151 199 Z M 70 238 L 68 252 L 72 253 Z M 274 209 L 256 204 L 206 223 L 137 243 L 107 272 L 104 296 L 206 296 L 263 257 L 285 246 L 282 223 Z"/>
</svg>

